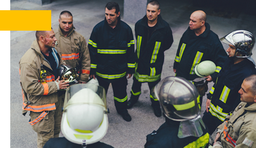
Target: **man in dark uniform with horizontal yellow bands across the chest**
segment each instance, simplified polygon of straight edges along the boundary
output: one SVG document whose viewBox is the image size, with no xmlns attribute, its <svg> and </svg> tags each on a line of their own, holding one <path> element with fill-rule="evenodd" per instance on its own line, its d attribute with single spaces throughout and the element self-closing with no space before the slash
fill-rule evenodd
<svg viewBox="0 0 256 148">
<path fill-rule="evenodd" d="M 126 109 L 126 86 L 127 78 L 131 78 L 135 70 L 134 39 L 132 29 L 120 19 L 117 3 L 106 4 L 105 20 L 93 28 L 88 46 L 90 77 L 97 78 L 106 92 L 112 84 L 117 113 L 125 121 L 131 121 Z"/>
</svg>

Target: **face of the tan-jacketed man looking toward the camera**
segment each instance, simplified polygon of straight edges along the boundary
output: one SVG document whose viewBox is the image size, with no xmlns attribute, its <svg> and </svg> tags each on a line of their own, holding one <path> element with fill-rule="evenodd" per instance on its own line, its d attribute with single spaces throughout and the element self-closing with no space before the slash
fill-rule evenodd
<svg viewBox="0 0 256 148">
<path fill-rule="evenodd" d="M 70 32 L 70 30 L 73 27 L 73 17 L 72 16 L 67 17 L 66 15 L 60 15 L 59 26 L 64 32 L 66 32 L 66 33 Z"/>
</svg>

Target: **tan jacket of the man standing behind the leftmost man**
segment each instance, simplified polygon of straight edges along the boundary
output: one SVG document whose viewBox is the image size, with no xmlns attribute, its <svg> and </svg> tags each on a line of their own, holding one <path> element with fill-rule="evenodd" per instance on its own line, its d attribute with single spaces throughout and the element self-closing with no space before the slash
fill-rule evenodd
<svg viewBox="0 0 256 148">
<path fill-rule="evenodd" d="M 81 81 L 87 82 L 91 69 L 91 59 L 86 39 L 73 27 L 67 37 L 60 30 L 54 30 L 57 43 L 56 50 L 66 64 L 77 68 Z"/>
</svg>

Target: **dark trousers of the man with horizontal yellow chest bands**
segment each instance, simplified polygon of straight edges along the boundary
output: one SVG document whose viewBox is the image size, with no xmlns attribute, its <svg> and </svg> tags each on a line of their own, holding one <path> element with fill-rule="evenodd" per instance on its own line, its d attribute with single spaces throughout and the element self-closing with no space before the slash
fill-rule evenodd
<svg viewBox="0 0 256 148">
<path fill-rule="evenodd" d="M 104 81 L 102 78 L 97 76 L 99 85 L 102 86 L 105 89 L 105 92 L 108 92 L 110 82 Z M 127 78 L 124 76 L 122 78 L 119 78 L 118 81 L 111 82 L 113 93 L 114 93 L 114 103 L 116 107 L 116 111 L 119 114 L 127 113 Z"/>
</svg>

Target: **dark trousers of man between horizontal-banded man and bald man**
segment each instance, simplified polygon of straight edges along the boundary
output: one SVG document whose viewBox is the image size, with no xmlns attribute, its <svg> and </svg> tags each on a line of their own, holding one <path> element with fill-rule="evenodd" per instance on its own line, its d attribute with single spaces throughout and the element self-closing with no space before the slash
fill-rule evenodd
<svg viewBox="0 0 256 148">
<path fill-rule="evenodd" d="M 154 82 L 147 82 L 147 85 L 150 88 L 150 100 L 152 103 L 152 107 L 160 107 L 159 101 L 157 100 L 157 98 L 153 97 L 151 92 L 152 88 L 155 87 L 160 81 L 161 79 Z M 142 82 L 139 82 L 135 77 L 133 77 L 133 86 L 131 91 L 131 102 L 133 103 L 136 103 L 139 100 L 139 96 L 141 94 L 141 84 Z"/>
</svg>

